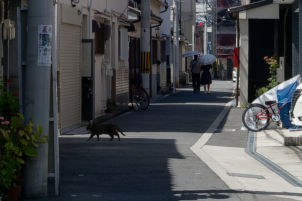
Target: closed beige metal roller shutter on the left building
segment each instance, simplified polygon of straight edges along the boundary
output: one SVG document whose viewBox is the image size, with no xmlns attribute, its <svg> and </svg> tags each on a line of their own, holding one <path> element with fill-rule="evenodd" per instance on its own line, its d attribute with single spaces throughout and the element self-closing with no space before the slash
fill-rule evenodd
<svg viewBox="0 0 302 201">
<path fill-rule="evenodd" d="M 80 26 L 61 24 L 61 129 L 80 126 L 81 34 Z"/>
</svg>

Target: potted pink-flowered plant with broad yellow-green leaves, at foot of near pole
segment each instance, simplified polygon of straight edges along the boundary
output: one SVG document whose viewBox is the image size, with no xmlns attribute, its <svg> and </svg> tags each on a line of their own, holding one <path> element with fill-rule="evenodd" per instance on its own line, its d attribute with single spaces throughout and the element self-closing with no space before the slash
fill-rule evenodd
<svg viewBox="0 0 302 201">
<path fill-rule="evenodd" d="M 13 116 L 11 121 L 0 117 L 0 190 L 9 200 L 17 200 L 21 184 L 21 164 L 24 156 L 37 156 L 34 149 L 36 142 L 47 142 L 47 136 L 42 136 L 42 127 L 38 124 L 33 130 L 32 120 L 24 123 L 24 117 Z"/>
</svg>

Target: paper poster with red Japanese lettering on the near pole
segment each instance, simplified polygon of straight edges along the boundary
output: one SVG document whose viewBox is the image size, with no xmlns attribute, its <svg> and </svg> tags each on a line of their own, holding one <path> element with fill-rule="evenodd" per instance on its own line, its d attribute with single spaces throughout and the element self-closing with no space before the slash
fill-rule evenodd
<svg viewBox="0 0 302 201">
<path fill-rule="evenodd" d="M 52 25 L 39 25 L 38 66 L 50 66 Z"/>
</svg>

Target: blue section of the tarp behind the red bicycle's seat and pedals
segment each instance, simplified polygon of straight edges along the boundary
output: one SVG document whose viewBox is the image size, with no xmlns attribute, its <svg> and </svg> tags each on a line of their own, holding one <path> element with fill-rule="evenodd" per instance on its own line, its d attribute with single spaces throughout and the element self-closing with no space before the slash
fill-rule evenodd
<svg viewBox="0 0 302 201">
<path fill-rule="evenodd" d="M 281 116 L 281 121 L 283 122 L 284 127 L 288 129 L 297 129 L 299 126 L 291 124 L 291 120 L 289 119 L 289 110 L 291 109 L 291 98 L 299 85 L 298 82 L 291 83 L 290 85 L 284 87 L 283 89 L 277 90 L 277 98 L 278 98 L 278 106 L 281 107 L 284 103 L 284 107 L 279 111 L 279 115 Z"/>
</svg>

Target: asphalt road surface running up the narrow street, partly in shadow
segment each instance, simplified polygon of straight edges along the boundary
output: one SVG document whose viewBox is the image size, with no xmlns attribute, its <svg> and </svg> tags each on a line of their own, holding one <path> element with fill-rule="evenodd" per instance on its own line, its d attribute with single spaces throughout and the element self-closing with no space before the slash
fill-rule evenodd
<svg viewBox="0 0 302 201">
<path fill-rule="evenodd" d="M 189 149 L 229 101 L 232 86 L 214 81 L 216 91 L 204 94 L 188 85 L 147 110 L 112 119 L 127 135 L 120 141 L 60 137 L 60 196 L 38 200 L 291 200 L 231 190 Z M 219 126 L 236 132 L 216 132 L 207 143 L 245 147 L 247 133 L 239 131 L 240 120 L 230 118 L 240 119 L 241 112 L 231 109 Z"/>
</svg>

